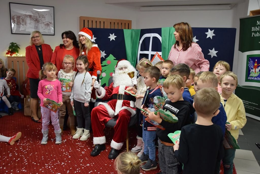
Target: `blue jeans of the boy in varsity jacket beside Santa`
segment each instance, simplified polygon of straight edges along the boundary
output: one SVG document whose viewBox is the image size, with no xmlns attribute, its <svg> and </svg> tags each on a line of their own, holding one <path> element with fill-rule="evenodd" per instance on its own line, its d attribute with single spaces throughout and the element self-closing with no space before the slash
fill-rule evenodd
<svg viewBox="0 0 260 174">
<path fill-rule="evenodd" d="M 155 143 L 156 131 L 143 130 L 144 154 L 148 155 L 152 161 L 155 161 Z"/>
</svg>

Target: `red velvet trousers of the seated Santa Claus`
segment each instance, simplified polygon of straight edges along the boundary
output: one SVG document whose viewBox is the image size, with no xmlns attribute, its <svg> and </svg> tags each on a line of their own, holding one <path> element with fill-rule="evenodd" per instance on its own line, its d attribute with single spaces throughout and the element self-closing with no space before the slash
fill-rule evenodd
<svg viewBox="0 0 260 174">
<path fill-rule="evenodd" d="M 113 140 L 117 143 L 122 143 L 126 139 L 127 127 L 131 118 L 131 112 L 123 109 L 114 118 L 117 118 L 116 125 L 114 127 L 115 133 Z M 91 125 L 94 137 L 105 136 L 104 128 L 105 123 L 107 123 L 112 118 L 109 117 L 107 109 L 104 105 L 99 105 L 92 109 L 91 112 Z"/>
</svg>

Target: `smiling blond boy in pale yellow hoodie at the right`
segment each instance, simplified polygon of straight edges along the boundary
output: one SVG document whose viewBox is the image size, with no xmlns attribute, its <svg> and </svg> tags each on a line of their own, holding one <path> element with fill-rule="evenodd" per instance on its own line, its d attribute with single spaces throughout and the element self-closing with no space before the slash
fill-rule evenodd
<svg viewBox="0 0 260 174">
<path fill-rule="evenodd" d="M 221 96 L 226 111 L 228 122 L 226 131 L 230 131 L 231 135 L 238 139 L 239 129 L 243 128 L 246 123 L 245 107 L 243 101 L 233 94 L 237 87 L 237 75 L 231 71 L 227 71 L 220 76 L 219 85 L 222 89 Z M 225 174 L 233 173 L 233 159 L 235 158 L 236 149 L 225 149 L 225 156 L 222 159 Z"/>
</svg>

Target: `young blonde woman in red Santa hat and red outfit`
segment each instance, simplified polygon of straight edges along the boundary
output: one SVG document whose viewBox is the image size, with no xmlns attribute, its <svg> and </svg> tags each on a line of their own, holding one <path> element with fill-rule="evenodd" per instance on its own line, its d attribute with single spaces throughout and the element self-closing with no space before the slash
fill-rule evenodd
<svg viewBox="0 0 260 174">
<path fill-rule="evenodd" d="M 92 76 L 92 93 L 90 99 L 90 112 L 94 107 L 96 95 L 95 89 L 93 89 L 93 85 L 95 80 L 97 79 L 97 71 L 101 72 L 101 53 L 97 44 L 93 42 L 93 34 L 92 31 L 88 28 L 82 28 L 79 32 L 79 46 L 80 46 L 80 55 L 87 55 L 88 58 L 88 72 Z"/>
</svg>

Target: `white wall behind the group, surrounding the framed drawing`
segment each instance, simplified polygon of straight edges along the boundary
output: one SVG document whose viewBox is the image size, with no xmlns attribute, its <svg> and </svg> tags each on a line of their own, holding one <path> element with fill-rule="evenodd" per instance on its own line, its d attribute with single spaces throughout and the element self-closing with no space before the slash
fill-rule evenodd
<svg viewBox="0 0 260 174">
<path fill-rule="evenodd" d="M 9 1 L 10 0 L 1 0 L 0 2 L 0 58 L 5 58 L 5 52 L 10 42 L 17 42 L 21 45 L 20 54 L 25 54 L 25 47 L 29 45 L 29 35 L 11 34 Z M 75 34 L 79 32 L 80 16 L 132 20 L 132 28 L 139 29 L 170 27 L 182 21 L 190 23 L 192 27 L 237 28 L 233 64 L 233 70 L 235 72 L 237 69 L 239 17 L 245 17 L 247 15 L 249 4 L 249 0 L 246 0 L 231 10 L 141 12 L 132 7 L 105 4 L 105 0 L 16 0 L 12 2 L 54 6 L 55 36 L 43 36 L 45 43 L 51 45 L 53 49 L 62 43 L 61 33 L 63 31 L 72 30 Z"/>
</svg>

